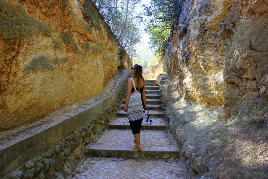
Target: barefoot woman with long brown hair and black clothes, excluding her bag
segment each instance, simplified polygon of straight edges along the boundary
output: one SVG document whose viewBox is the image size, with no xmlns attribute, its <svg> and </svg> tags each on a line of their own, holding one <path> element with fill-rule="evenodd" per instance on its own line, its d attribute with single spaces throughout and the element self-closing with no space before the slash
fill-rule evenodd
<svg viewBox="0 0 268 179">
<path fill-rule="evenodd" d="M 146 104 L 146 97 L 145 97 L 145 80 L 142 77 L 142 66 L 140 65 L 134 65 L 134 67 L 131 67 L 131 74 L 133 75 L 133 79 L 135 82 L 136 89 L 140 91 L 141 98 L 142 98 L 142 106 L 143 109 L 148 109 L 148 105 Z M 132 84 L 132 80 L 128 79 L 128 88 L 127 88 L 127 93 L 126 93 L 126 103 L 125 103 L 125 108 L 124 111 L 127 113 L 128 110 L 128 101 L 130 99 L 130 95 L 135 91 L 134 86 Z M 141 150 L 140 148 L 140 129 L 142 127 L 142 119 L 137 119 L 134 121 L 129 121 L 132 133 L 134 135 L 134 142 L 136 142 L 137 147 L 134 147 L 134 150 Z"/>
</svg>

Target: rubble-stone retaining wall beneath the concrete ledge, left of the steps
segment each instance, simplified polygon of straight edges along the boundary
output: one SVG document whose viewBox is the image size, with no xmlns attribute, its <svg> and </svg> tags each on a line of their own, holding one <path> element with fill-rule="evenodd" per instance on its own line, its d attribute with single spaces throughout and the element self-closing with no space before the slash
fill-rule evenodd
<svg viewBox="0 0 268 179">
<path fill-rule="evenodd" d="M 84 147 L 101 135 L 126 94 L 128 75 L 112 105 L 102 110 L 86 124 L 78 127 L 49 150 L 29 160 L 4 179 L 67 178 L 84 157 Z M 27 155 L 27 154 L 24 154 Z"/>
</svg>

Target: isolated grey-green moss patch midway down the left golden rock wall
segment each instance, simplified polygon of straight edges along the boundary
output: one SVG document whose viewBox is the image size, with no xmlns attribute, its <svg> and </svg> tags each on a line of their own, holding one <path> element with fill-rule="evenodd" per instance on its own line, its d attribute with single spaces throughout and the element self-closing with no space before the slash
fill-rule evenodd
<svg viewBox="0 0 268 179">
<path fill-rule="evenodd" d="M 48 57 L 45 55 L 39 55 L 31 58 L 29 62 L 24 66 L 25 70 L 35 71 L 38 69 L 53 70 L 53 66 L 48 62 Z"/>
</svg>

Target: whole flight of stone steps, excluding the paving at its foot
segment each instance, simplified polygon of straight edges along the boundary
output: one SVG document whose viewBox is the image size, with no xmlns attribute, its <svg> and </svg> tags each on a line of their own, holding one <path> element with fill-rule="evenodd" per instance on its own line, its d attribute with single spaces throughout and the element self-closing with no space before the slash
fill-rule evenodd
<svg viewBox="0 0 268 179">
<path fill-rule="evenodd" d="M 123 110 L 124 99 L 120 110 L 117 111 L 117 116 L 110 121 L 109 128 L 98 139 L 86 146 L 86 155 L 147 159 L 179 157 L 177 142 L 168 131 L 158 82 L 156 80 L 146 80 L 145 83 L 146 103 L 149 107 L 150 117 L 154 120 L 154 125 L 145 125 L 145 119 L 142 122 L 140 132 L 142 151 L 132 149 L 136 146 L 136 143 L 133 141 L 134 136 L 130 129 L 127 114 Z"/>
</svg>

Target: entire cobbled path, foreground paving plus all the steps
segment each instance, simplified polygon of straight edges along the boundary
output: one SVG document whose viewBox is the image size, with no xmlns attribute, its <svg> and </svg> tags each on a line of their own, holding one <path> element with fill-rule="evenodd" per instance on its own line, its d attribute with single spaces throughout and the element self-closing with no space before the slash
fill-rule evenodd
<svg viewBox="0 0 268 179">
<path fill-rule="evenodd" d="M 136 144 L 123 110 L 123 100 L 117 117 L 109 123 L 109 129 L 86 147 L 87 157 L 81 161 L 72 178 L 188 179 L 186 168 L 179 160 L 177 142 L 168 131 L 158 82 L 146 80 L 145 94 L 154 125 L 145 125 L 143 120 L 140 133 L 142 151 L 132 150 Z M 170 161 L 170 158 L 174 160 Z"/>
</svg>

